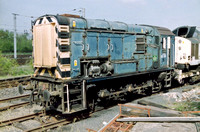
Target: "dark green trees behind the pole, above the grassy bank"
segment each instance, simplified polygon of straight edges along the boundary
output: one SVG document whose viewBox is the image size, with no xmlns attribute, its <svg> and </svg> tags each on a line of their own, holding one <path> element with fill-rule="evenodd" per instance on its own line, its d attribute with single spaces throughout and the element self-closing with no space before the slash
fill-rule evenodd
<svg viewBox="0 0 200 132">
<path fill-rule="evenodd" d="M 2 53 L 14 51 L 13 36 L 13 32 L 0 30 L 0 51 Z M 28 39 L 28 34 L 17 34 L 17 52 L 32 52 L 32 40 Z"/>
</svg>

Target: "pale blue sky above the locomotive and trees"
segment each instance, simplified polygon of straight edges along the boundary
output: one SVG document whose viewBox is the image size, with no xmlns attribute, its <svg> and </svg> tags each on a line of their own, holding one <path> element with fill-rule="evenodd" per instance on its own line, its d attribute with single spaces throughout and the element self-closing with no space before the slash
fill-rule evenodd
<svg viewBox="0 0 200 132">
<path fill-rule="evenodd" d="M 45 14 L 80 14 L 85 17 L 148 24 L 171 30 L 183 26 L 200 27 L 200 0 L 0 0 L 0 29 L 13 31 L 12 13 L 17 16 L 17 32 L 31 32 L 31 20 Z M 31 18 L 33 16 L 34 18 Z"/>
</svg>

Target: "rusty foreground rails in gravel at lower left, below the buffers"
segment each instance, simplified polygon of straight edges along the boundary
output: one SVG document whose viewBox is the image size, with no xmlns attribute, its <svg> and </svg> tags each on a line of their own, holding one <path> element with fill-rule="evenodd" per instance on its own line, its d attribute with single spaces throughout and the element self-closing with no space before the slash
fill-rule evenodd
<svg viewBox="0 0 200 132">
<path fill-rule="evenodd" d="M 28 98 L 29 96 L 30 96 L 30 94 L 26 94 L 26 95 L 11 97 L 11 98 L 5 98 L 5 99 L 1 99 L 0 103 L 5 103 L 5 102 L 18 100 L 18 99 Z M 0 107 L 0 111 L 8 110 L 8 109 L 14 109 L 14 108 L 18 108 L 18 107 L 23 107 L 23 106 L 26 106 L 26 105 L 29 105 L 29 102 L 22 102 L 22 103 L 18 103 L 18 104 L 3 106 L 3 107 Z M 50 112 L 47 112 L 47 113 L 49 114 Z M 27 128 L 24 128 L 23 131 L 26 131 L 26 132 L 34 132 L 35 131 L 35 132 L 37 132 L 37 131 L 45 131 L 45 130 L 53 129 L 53 128 L 56 128 L 56 127 L 59 127 L 59 126 L 62 126 L 62 125 L 70 124 L 70 123 L 74 122 L 74 118 L 76 118 L 78 120 L 83 118 L 83 117 L 77 117 L 77 116 L 74 117 L 74 118 L 72 118 L 72 117 L 63 118 L 63 116 L 59 115 L 60 118 L 56 119 L 55 117 L 58 117 L 58 116 L 56 116 L 56 115 L 53 115 L 53 116 L 50 115 L 49 116 L 48 114 L 46 114 L 46 112 L 44 112 L 44 111 L 41 111 L 41 112 L 34 113 L 34 114 L 27 114 L 25 116 L 3 120 L 3 121 L 0 121 L 0 127 L 13 125 L 13 126 L 16 126 L 18 128 L 17 124 L 19 124 L 21 122 L 28 121 L 28 120 L 36 120 L 36 121 L 40 122 L 41 126 L 31 128 L 31 129 L 28 129 L 28 130 L 27 130 Z M 46 122 L 44 122 L 44 120 L 41 119 L 43 117 L 45 117 L 45 119 L 46 119 L 48 116 L 49 116 L 48 119 L 50 119 L 50 118 L 51 119 L 53 118 L 53 119 L 50 120 L 50 121 L 48 120 Z"/>
</svg>

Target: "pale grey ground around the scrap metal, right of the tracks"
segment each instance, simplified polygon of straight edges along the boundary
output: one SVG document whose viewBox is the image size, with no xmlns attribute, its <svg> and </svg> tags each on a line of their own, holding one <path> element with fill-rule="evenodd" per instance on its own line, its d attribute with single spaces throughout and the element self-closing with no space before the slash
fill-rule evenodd
<svg viewBox="0 0 200 132">
<path fill-rule="evenodd" d="M 188 91 L 189 90 L 189 91 Z M 183 91 L 187 91 L 187 92 L 183 92 Z M 182 86 L 179 88 L 174 88 L 174 89 L 170 89 L 167 93 L 159 93 L 159 94 L 154 94 L 152 96 L 149 97 L 144 97 L 142 98 L 143 100 L 148 100 L 154 103 L 158 103 L 164 106 L 170 106 L 173 105 L 174 102 L 176 101 L 184 101 L 185 99 L 193 99 L 194 97 L 196 98 L 198 93 L 200 93 L 200 83 L 195 84 L 195 85 L 187 85 L 187 86 Z M 173 96 L 172 96 L 173 95 Z M 131 103 L 137 103 L 137 101 L 139 101 L 141 99 L 137 99 L 132 101 Z M 66 131 L 66 132 L 87 132 L 87 128 L 93 129 L 93 130 L 100 130 L 104 124 L 106 124 L 106 122 L 109 122 L 110 120 L 112 120 L 117 114 L 119 114 L 119 107 L 118 106 L 114 106 L 112 108 L 106 109 L 106 110 L 102 110 L 99 112 L 96 112 L 92 115 L 91 118 L 85 119 L 85 120 L 81 120 L 78 122 L 75 122 L 73 124 L 69 124 L 60 128 L 57 128 L 55 130 L 52 131 Z M 162 124 L 162 123 L 154 123 L 154 124 L 149 124 L 149 127 L 145 127 L 145 128 L 150 128 L 150 129 L 142 129 L 143 127 L 141 127 L 144 124 L 139 124 L 137 128 L 140 128 L 140 131 L 143 132 L 147 132 L 147 131 L 151 131 L 151 132 L 192 132 L 193 130 L 195 130 L 194 132 L 196 132 L 196 128 L 194 126 L 194 124 L 192 123 L 166 123 L 166 124 Z M 165 128 L 162 126 L 169 126 L 169 128 Z M 187 125 L 187 127 L 182 127 L 184 125 Z M 151 126 L 151 127 L 150 127 Z M 173 128 L 175 128 L 174 130 L 172 130 Z M 158 129 L 158 130 L 157 130 Z M 162 129 L 162 130 L 161 130 Z M 159 131 L 161 130 L 161 131 Z M 163 131 L 164 130 L 164 131 Z M 188 131 L 189 130 L 189 131 Z M 190 131 L 191 130 L 191 131 Z M 135 131 L 133 129 L 133 132 L 138 132 Z"/>
</svg>

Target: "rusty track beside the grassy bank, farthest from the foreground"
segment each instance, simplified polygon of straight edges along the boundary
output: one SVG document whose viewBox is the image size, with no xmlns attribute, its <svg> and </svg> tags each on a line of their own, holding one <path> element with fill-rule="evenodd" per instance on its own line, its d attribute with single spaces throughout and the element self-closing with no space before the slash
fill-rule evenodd
<svg viewBox="0 0 200 132">
<path fill-rule="evenodd" d="M 6 79 L 0 79 L 0 89 L 2 88 L 12 88 L 17 87 L 19 83 L 22 85 L 27 85 L 30 81 L 31 76 L 19 76 L 19 77 L 12 77 Z"/>
</svg>

